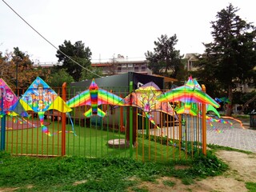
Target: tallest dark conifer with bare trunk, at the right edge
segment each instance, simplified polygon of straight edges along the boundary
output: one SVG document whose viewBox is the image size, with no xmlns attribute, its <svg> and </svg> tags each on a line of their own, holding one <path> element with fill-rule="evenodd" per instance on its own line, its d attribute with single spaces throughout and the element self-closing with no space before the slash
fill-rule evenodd
<svg viewBox="0 0 256 192">
<path fill-rule="evenodd" d="M 211 23 L 214 41 L 204 44 L 205 53 L 199 58 L 199 77 L 217 83 L 226 90 L 230 104 L 226 115 L 231 115 L 233 91 L 238 83 L 253 81 L 256 66 L 256 30 L 252 23 L 242 20 L 232 4 L 216 15 Z"/>
</svg>

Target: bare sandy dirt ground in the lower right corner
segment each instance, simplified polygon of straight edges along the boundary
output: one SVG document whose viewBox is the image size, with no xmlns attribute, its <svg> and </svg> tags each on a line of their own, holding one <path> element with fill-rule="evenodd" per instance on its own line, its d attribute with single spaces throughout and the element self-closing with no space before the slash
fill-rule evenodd
<svg viewBox="0 0 256 192">
<path fill-rule="evenodd" d="M 242 192 L 247 191 L 246 182 L 256 182 L 256 154 L 243 154 L 236 151 L 220 150 L 216 154 L 218 158 L 230 166 L 222 176 L 210 177 L 194 184 L 184 185 L 178 178 L 160 178 L 157 182 L 142 182 L 140 189 L 158 192 L 182 192 L 182 191 L 223 191 L 223 192 Z M 166 186 L 165 181 L 174 182 L 174 186 Z M 133 191 L 133 190 L 130 190 Z"/>
</svg>

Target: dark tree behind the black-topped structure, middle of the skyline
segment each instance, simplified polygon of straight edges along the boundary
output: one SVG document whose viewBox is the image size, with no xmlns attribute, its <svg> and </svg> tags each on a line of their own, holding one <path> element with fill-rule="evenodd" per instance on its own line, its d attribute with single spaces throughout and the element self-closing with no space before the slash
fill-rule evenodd
<svg viewBox="0 0 256 192">
<path fill-rule="evenodd" d="M 177 42 L 176 34 L 170 38 L 166 34 L 161 35 L 158 42 L 154 42 L 154 52 L 147 51 L 145 55 L 149 62 L 148 67 L 154 74 L 168 75 L 170 71 L 170 77 L 176 78 L 182 61 L 180 51 L 174 48 Z"/>
</svg>

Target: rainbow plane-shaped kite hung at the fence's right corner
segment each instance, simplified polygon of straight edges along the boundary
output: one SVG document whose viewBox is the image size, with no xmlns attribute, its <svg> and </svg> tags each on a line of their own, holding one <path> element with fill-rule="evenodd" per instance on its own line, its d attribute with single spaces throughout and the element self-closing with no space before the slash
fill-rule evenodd
<svg viewBox="0 0 256 192">
<path fill-rule="evenodd" d="M 176 107 L 177 114 L 191 114 L 196 116 L 198 109 L 194 103 L 210 104 L 215 108 L 220 105 L 208 94 L 204 93 L 198 82 L 190 76 L 184 86 L 178 86 L 158 96 L 159 102 L 183 102 L 181 107 Z"/>
</svg>

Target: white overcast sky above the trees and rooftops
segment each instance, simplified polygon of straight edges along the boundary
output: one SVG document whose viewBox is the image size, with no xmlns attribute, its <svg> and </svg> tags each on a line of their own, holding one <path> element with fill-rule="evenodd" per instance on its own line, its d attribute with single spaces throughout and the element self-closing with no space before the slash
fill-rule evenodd
<svg viewBox="0 0 256 192">
<path fill-rule="evenodd" d="M 0 1 L 0 51 L 18 46 L 36 62 L 57 62 L 56 49 L 41 38 L 9 4 L 54 46 L 82 41 L 92 62 L 117 57 L 142 59 L 162 34 L 177 35 L 176 50 L 199 53 L 211 42 L 210 22 L 229 3 L 256 26 L 255 0 L 4 0 Z"/>
</svg>

